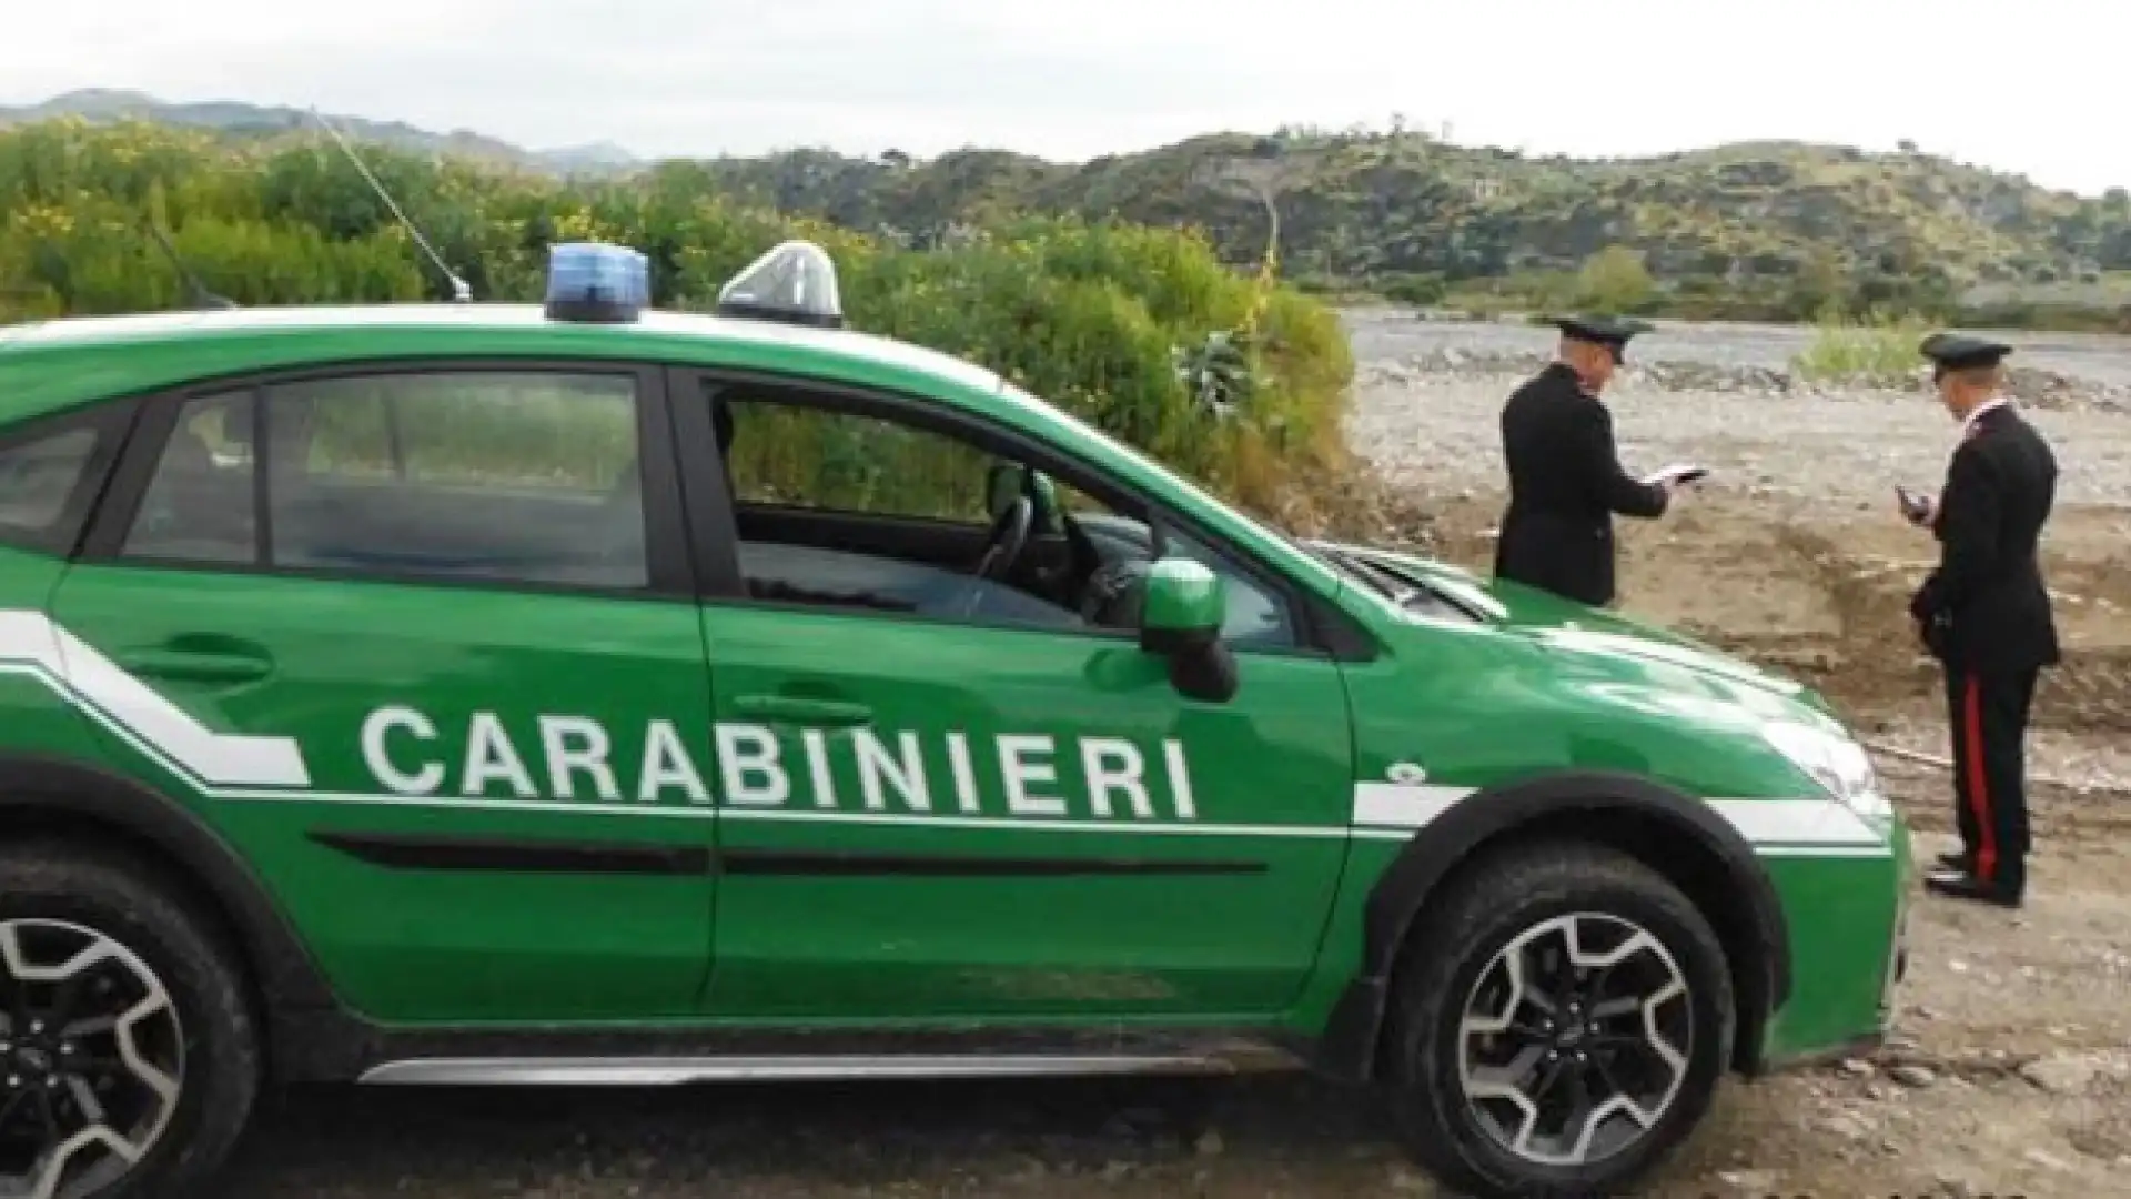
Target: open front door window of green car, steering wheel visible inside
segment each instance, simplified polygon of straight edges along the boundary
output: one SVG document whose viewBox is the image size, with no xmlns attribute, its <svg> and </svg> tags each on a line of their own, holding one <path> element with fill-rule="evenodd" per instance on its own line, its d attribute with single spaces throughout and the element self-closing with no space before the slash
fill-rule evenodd
<svg viewBox="0 0 2131 1199">
<path fill-rule="evenodd" d="M 1155 557 L 1140 518 L 982 446 L 895 416 L 714 390 L 752 597 L 944 621 L 1132 632 Z M 1014 548 L 1012 506 L 1034 512 Z M 1170 535 L 1227 585 L 1238 649 L 1300 644 L 1281 597 L 1213 548 Z M 1012 561 L 989 561 L 1008 553 Z"/>
</svg>

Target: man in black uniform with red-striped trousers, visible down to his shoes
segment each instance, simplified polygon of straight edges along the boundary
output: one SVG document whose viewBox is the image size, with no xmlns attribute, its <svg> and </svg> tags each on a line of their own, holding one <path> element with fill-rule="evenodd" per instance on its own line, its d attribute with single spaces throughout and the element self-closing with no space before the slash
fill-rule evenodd
<svg viewBox="0 0 2131 1199">
<path fill-rule="evenodd" d="M 1909 602 L 1946 668 L 1961 853 L 1924 885 L 2020 907 L 2027 894 L 2027 717 L 2059 661 L 2037 542 L 2056 499 L 2056 459 L 2003 393 L 2010 346 L 1937 333 L 1922 343 L 1939 401 L 1961 420 L 1939 497 L 1907 512 L 1939 540 L 1939 565 Z"/>
</svg>

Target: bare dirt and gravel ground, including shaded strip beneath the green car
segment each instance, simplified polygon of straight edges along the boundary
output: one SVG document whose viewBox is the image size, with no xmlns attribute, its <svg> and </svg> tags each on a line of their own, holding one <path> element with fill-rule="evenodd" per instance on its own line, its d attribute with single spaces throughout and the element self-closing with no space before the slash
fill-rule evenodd
<svg viewBox="0 0 2131 1199">
<path fill-rule="evenodd" d="M 1517 378 L 1357 346 L 1351 439 L 1415 514 L 1398 533 L 1485 563 L 1494 414 Z M 1892 516 L 1894 482 L 1943 471 L 1943 412 L 1924 395 L 1634 378 L 1613 410 L 1630 467 L 1713 467 L 1688 508 L 1624 531 L 1624 606 L 1809 676 L 1880 745 L 1943 755 L 1937 681 L 1903 617 L 1935 546 Z M 1730 1086 L 1647 1195 L 2131 1190 L 2131 414 L 2033 416 L 2063 463 L 2048 576 L 2069 657 L 2035 713 L 2029 907 L 1918 896 L 1899 1039 L 1873 1060 Z M 1920 849 L 1948 847 L 1948 777 L 1901 753 L 1882 768 Z M 262 1118 L 228 1199 L 1434 1193 L 1366 1103 L 1274 1077 L 322 1090 Z"/>
</svg>

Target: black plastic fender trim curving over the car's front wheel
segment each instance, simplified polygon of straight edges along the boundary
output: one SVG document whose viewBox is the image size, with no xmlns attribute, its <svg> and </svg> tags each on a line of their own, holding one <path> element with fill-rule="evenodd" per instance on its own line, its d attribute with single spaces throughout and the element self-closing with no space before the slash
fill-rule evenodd
<svg viewBox="0 0 2131 1199">
<path fill-rule="evenodd" d="M 1362 917 L 1362 971 L 1340 994 L 1315 1052 L 1315 1067 L 1340 1082 L 1372 1082 L 1377 1048 L 1392 1003 L 1392 971 L 1415 917 L 1428 907 L 1438 883 L 1466 864 L 1475 851 L 1502 845 L 1519 832 L 1543 832 L 1560 819 L 1620 815 L 1641 828 L 1660 828 L 1688 838 L 1681 849 L 1701 851 L 1722 870 L 1733 913 L 1711 913 L 1718 937 L 1739 954 L 1741 937 L 1758 969 L 1745 975 L 1739 1045 L 1745 1073 L 1760 1073 L 1760 1039 L 1769 1018 L 1790 998 L 1790 932 L 1775 881 L 1754 847 L 1709 804 L 1643 779 L 1607 770 L 1564 770 L 1477 792 L 1417 830 L 1385 868 L 1368 896 Z M 1681 858 L 1654 860 L 1660 873 L 1675 873 Z M 1701 898 L 1701 896 L 1696 896 Z M 1735 973 L 1739 962 L 1733 962 Z"/>
</svg>

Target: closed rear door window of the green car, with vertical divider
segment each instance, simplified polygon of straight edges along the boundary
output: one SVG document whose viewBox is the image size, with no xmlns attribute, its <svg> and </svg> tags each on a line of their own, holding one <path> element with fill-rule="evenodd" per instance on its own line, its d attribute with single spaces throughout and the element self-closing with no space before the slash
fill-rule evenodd
<svg viewBox="0 0 2131 1199">
<path fill-rule="evenodd" d="M 437 367 L 188 399 L 119 555 L 641 591 L 639 390 L 631 369 Z"/>
</svg>

